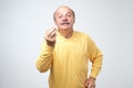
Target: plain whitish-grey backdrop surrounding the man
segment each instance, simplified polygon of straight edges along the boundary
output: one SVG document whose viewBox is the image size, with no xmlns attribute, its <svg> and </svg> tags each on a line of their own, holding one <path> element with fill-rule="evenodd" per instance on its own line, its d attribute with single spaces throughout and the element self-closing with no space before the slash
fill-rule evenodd
<svg viewBox="0 0 133 88">
<path fill-rule="evenodd" d="M 49 88 L 49 72 L 40 74 L 35 61 L 62 4 L 104 54 L 96 88 L 133 88 L 132 0 L 0 0 L 0 88 Z"/>
</svg>

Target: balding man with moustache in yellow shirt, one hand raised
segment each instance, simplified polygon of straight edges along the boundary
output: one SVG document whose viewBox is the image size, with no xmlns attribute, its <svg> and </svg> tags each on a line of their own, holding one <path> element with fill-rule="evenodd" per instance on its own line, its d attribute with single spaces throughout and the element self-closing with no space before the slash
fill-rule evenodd
<svg viewBox="0 0 133 88">
<path fill-rule="evenodd" d="M 53 20 L 58 29 L 45 32 L 37 68 L 41 73 L 50 69 L 50 88 L 95 88 L 102 53 L 89 35 L 73 30 L 75 14 L 69 7 L 59 7 Z M 92 69 L 88 77 L 89 61 Z"/>
</svg>

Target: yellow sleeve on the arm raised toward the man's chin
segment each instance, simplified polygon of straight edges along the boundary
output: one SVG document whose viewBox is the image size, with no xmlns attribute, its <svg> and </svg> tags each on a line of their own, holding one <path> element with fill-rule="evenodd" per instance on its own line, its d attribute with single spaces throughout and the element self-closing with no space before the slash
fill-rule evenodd
<svg viewBox="0 0 133 88">
<path fill-rule="evenodd" d="M 45 41 L 42 43 L 41 53 L 37 59 L 35 66 L 40 73 L 47 72 L 52 63 L 53 47 L 47 45 Z"/>
</svg>

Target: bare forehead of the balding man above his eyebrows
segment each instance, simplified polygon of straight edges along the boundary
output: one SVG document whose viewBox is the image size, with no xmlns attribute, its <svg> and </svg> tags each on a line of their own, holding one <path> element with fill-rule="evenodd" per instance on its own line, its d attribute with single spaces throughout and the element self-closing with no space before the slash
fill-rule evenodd
<svg viewBox="0 0 133 88">
<path fill-rule="evenodd" d="M 68 7 L 61 7 L 55 11 L 55 14 L 68 14 L 68 13 L 72 13 L 72 10 Z"/>
</svg>

